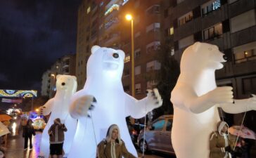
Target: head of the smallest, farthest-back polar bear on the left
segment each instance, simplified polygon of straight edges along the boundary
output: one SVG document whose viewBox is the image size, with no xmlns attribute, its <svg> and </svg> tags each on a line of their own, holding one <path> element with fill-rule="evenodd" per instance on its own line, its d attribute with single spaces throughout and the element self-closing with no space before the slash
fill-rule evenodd
<svg viewBox="0 0 256 158">
<path fill-rule="evenodd" d="M 65 74 L 58 74 L 56 79 L 57 92 L 68 91 L 70 93 L 75 93 L 75 91 L 77 91 L 77 77 Z"/>
</svg>

